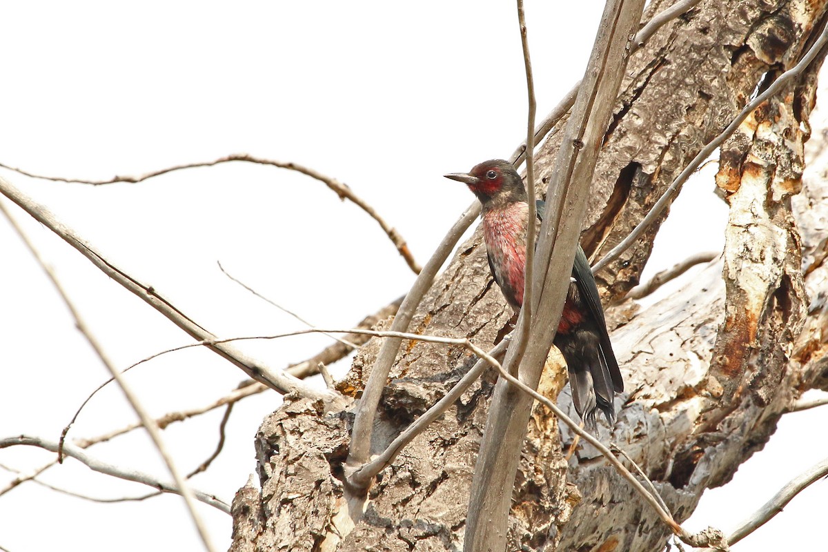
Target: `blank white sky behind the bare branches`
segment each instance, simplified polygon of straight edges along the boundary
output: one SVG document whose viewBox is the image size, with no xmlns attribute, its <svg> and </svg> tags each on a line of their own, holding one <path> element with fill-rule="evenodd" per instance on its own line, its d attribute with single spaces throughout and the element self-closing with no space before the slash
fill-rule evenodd
<svg viewBox="0 0 828 552">
<path fill-rule="evenodd" d="M 441 175 L 510 155 L 525 134 L 526 92 L 513 2 L 414 6 L 5 2 L 0 162 L 105 179 L 236 152 L 295 161 L 350 185 L 425 262 L 473 199 L 465 186 Z M 539 114 L 580 78 L 601 7 L 596 0 L 527 0 Z M 648 273 L 690 252 L 720 247 L 724 204 L 710 194 L 712 174 L 703 173 L 682 193 Z M 229 281 L 217 261 L 320 326 L 351 326 L 402 295 L 413 279 L 373 220 L 290 171 L 236 163 L 101 188 L 2 175 L 221 336 L 275 334 L 301 324 Z M 706 232 L 697 232 L 700 202 L 710 217 Z M 17 214 L 118 366 L 189 342 L 45 228 Z M 693 233 L 686 231 L 690 224 Z M 0 438 L 57 439 L 107 375 L 5 220 L 0 236 Z M 307 336 L 244 347 L 280 367 L 327 343 Z M 347 363 L 335 368 L 341 373 Z M 224 395 L 243 373 L 212 353 L 188 349 L 129 377 L 152 413 L 161 415 Z M 279 401 L 267 393 L 236 407 L 224 452 L 195 478 L 195 487 L 232 499 L 254 470 L 253 435 Z M 216 411 L 166 430 L 182 470 L 212 452 L 220 416 Z M 70 435 L 93 436 L 133 420 L 111 386 Z M 808 439 L 826 421 L 820 412 L 784 418 L 766 452 L 740 469 L 732 485 L 705 496 L 694 527 L 727 530 L 781 482 L 828 455 L 825 439 Z M 140 432 L 90 452 L 167 479 Z M 0 451 L 0 464 L 24 471 L 50 458 L 22 447 Z M 0 469 L 0 487 L 13 477 Z M 72 460 L 42 479 L 95 497 L 146 492 Z M 817 483 L 808 492 L 811 502 L 808 496 L 795 500 L 735 552 L 817 542 L 813 521 L 823 508 L 815 503 L 825 492 L 825 483 Z M 200 512 L 217 548 L 225 549 L 229 516 L 209 506 Z M 0 547 L 54 550 L 57 539 L 66 550 L 200 546 L 179 497 L 100 504 L 32 483 L 0 497 Z"/>
</svg>

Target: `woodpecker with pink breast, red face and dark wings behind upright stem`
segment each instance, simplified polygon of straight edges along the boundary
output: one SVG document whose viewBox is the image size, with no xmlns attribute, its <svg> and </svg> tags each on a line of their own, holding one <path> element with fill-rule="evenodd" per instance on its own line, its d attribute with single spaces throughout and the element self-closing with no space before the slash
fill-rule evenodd
<svg viewBox="0 0 828 552">
<path fill-rule="evenodd" d="M 519 312 L 525 286 L 529 214 L 520 175 L 508 161 L 493 159 L 468 173 L 451 173 L 445 178 L 463 182 L 480 200 L 489 269 L 508 303 Z M 542 220 L 546 204 L 538 200 L 536 205 L 537 218 Z M 566 361 L 575 411 L 595 432 L 598 410 L 610 427 L 614 425 L 613 401 L 615 393 L 623 391 L 623 378 L 609 340 L 595 277 L 580 245 L 568 286 L 554 343 Z"/>
</svg>

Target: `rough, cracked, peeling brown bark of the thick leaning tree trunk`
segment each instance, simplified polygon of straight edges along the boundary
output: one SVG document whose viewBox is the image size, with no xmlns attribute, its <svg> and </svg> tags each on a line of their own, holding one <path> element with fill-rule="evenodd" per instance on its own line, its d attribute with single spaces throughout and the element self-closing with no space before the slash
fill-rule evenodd
<svg viewBox="0 0 828 552">
<path fill-rule="evenodd" d="M 663 7 L 653 3 L 651 13 Z M 703 2 L 633 55 L 596 172 L 588 252 L 628 233 L 761 75 L 796 62 L 824 12 L 824 2 Z M 818 210 L 828 190 L 808 182 L 796 196 L 813 75 L 760 108 L 722 149 L 717 183 L 731 214 L 720 264 L 651 308 L 627 301 L 609 310 L 627 392 L 611 437 L 606 429 L 602 437 L 644 469 L 679 520 L 763 446 L 797 396 L 828 382 L 828 215 Z M 540 175 L 555 151 L 552 137 Z M 638 282 L 655 233 L 598 275 L 608 297 Z M 489 348 L 511 315 L 475 234 L 412 329 Z M 358 395 L 377 351 L 377 340 L 360 349 L 341 391 Z M 373 446 L 393 439 L 474 360 L 459 346 L 403 343 Z M 257 436 L 261 491 L 248 484 L 238 493 L 231 550 L 460 550 L 492 387 L 489 373 L 393 461 L 355 526 L 349 507 L 362 506 L 345 501 L 341 475 L 349 414 L 288 398 Z M 552 394 L 557 388 L 542 382 Z M 571 408 L 566 392 L 558 401 Z M 508 550 L 662 548 L 668 530 L 654 512 L 589 447 L 579 445 L 567 462 L 561 446 L 570 442 L 545 410 L 533 412 L 516 487 L 504 490 L 513 493 Z"/>
</svg>

